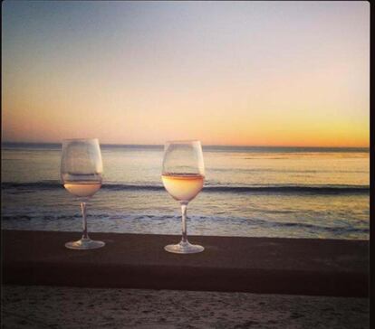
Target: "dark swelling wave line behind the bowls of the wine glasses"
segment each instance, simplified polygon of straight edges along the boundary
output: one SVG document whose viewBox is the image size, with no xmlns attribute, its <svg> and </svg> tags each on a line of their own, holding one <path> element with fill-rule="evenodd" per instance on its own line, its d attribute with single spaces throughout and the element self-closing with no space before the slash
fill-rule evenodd
<svg viewBox="0 0 375 329">
<path fill-rule="evenodd" d="M 4 182 L 2 190 L 13 189 L 15 192 L 34 192 L 63 188 L 58 181 L 43 181 L 30 183 Z M 164 191 L 163 185 L 142 185 L 124 183 L 103 183 L 103 190 L 110 191 Z M 311 193 L 311 194 L 357 194 L 370 193 L 366 185 L 209 185 L 203 189 L 204 193 Z"/>
</svg>

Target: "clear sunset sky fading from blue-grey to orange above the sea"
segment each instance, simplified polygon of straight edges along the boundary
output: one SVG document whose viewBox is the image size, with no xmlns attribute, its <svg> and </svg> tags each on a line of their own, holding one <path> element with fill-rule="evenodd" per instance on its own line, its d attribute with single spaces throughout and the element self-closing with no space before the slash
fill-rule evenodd
<svg viewBox="0 0 375 329">
<path fill-rule="evenodd" d="M 370 4 L 2 3 L 2 140 L 370 145 Z"/>
</svg>

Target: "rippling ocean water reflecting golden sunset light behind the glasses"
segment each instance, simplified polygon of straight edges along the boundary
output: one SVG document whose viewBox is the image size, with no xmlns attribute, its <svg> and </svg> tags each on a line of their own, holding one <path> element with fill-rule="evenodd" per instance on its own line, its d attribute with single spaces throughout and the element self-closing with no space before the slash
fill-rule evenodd
<svg viewBox="0 0 375 329">
<path fill-rule="evenodd" d="M 187 234 L 368 240 L 368 148 L 203 146 L 206 180 Z M 80 201 L 60 182 L 61 145 L 2 145 L 2 230 L 81 231 Z M 163 146 L 101 145 L 104 181 L 90 232 L 180 234 L 161 182 Z M 77 239 L 79 234 L 77 234 Z"/>
</svg>

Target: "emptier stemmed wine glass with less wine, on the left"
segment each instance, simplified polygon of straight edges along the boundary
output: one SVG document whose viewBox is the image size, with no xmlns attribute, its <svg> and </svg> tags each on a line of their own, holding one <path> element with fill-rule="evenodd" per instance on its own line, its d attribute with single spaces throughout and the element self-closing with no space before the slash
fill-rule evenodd
<svg viewBox="0 0 375 329">
<path fill-rule="evenodd" d="M 63 140 L 61 178 L 63 187 L 81 200 L 83 230 L 81 240 L 65 243 L 66 248 L 97 249 L 105 245 L 89 238 L 86 220 L 86 202 L 101 188 L 102 172 L 101 148 L 97 138 Z"/>
</svg>

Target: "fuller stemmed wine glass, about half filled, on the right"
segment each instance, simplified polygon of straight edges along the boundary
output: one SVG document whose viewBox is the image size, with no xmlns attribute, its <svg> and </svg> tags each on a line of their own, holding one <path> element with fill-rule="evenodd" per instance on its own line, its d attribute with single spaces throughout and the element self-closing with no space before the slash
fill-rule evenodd
<svg viewBox="0 0 375 329">
<path fill-rule="evenodd" d="M 182 239 L 164 249 L 178 254 L 192 254 L 204 250 L 187 241 L 187 203 L 202 190 L 205 180 L 202 146 L 199 141 L 170 141 L 164 147 L 161 174 L 168 193 L 181 204 Z"/>
</svg>

